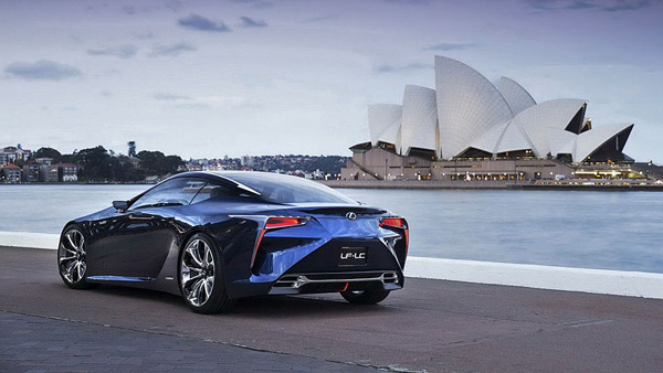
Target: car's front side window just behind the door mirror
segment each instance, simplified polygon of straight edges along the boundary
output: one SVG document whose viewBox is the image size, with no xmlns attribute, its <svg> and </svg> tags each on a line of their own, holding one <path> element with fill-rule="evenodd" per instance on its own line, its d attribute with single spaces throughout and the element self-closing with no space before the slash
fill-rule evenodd
<svg viewBox="0 0 663 373">
<path fill-rule="evenodd" d="M 172 179 L 145 193 L 130 209 L 187 205 L 203 185 L 204 181 L 199 179 Z"/>
</svg>

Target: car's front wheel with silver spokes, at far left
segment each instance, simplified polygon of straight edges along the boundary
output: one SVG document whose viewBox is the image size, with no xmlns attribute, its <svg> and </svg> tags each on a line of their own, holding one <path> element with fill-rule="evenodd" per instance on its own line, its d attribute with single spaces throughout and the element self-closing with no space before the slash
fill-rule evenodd
<svg viewBox="0 0 663 373">
<path fill-rule="evenodd" d="M 90 289 L 98 286 L 87 283 L 87 253 L 83 231 L 76 225 L 67 226 L 57 243 L 57 271 L 72 289 Z"/>
</svg>

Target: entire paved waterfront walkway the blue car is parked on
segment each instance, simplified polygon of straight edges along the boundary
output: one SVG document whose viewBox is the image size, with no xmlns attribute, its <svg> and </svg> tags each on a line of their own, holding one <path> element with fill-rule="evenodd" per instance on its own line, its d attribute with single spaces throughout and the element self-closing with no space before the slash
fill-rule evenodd
<svg viewBox="0 0 663 373">
<path fill-rule="evenodd" d="M 338 295 L 263 297 L 201 316 L 156 291 L 71 290 L 53 251 L 0 247 L 0 371 L 663 366 L 663 300 L 441 280 L 408 278 L 380 306 L 349 305 Z M 56 365 L 40 365 L 49 361 Z M 67 361 L 74 367 L 60 365 Z"/>
</svg>

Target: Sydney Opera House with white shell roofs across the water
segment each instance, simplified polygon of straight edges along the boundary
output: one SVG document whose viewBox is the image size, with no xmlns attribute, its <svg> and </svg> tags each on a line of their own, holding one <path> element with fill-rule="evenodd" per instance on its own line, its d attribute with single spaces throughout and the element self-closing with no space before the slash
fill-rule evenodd
<svg viewBox="0 0 663 373">
<path fill-rule="evenodd" d="M 592 127 L 585 99 L 537 104 L 513 79 L 494 85 L 443 56 L 434 72 L 435 89 L 408 85 L 401 105 L 369 105 L 370 141 L 350 148 L 344 179 L 572 178 L 580 166 L 632 161 L 622 151 L 633 124 Z"/>
</svg>

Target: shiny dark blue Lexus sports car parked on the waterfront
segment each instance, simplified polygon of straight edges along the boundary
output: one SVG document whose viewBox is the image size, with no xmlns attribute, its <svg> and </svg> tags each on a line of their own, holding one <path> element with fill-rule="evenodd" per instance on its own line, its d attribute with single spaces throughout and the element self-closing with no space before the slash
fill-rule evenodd
<svg viewBox="0 0 663 373">
<path fill-rule="evenodd" d="M 403 286 L 408 232 L 403 217 L 314 181 L 185 172 L 69 222 L 57 267 L 74 289 L 161 290 L 200 313 L 263 295 L 340 292 L 377 303 Z"/>
</svg>

